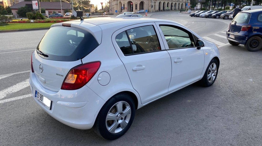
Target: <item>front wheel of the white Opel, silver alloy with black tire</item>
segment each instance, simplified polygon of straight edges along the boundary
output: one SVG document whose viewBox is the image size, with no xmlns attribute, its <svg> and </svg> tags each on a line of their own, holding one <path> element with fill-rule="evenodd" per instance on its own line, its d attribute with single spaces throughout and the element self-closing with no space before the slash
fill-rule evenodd
<svg viewBox="0 0 262 146">
<path fill-rule="evenodd" d="M 200 80 L 200 84 L 204 87 L 209 87 L 214 84 L 217 74 L 218 74 L 219 65 L 216 59 L 212 59 L 206 68 L 204 77 Z"/>
</svg>

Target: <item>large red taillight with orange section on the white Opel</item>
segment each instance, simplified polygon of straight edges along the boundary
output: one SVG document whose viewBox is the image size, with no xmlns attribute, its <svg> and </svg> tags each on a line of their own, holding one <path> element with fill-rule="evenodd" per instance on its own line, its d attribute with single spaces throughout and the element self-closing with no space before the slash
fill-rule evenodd
<svg viewBox="0 0 262 146">
<path fill-rule="evenodd" d="M 65 77 L 62 90 L 76 90 L 88 83 L 100 67 L 100 61 L 85 63 L 70 70 Z"/>
</svg>

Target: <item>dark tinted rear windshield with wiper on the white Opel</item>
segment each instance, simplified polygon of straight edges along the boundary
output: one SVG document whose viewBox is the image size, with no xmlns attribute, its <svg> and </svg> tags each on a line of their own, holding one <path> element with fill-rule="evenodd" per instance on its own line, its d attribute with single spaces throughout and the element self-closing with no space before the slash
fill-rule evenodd
<svg viewBox="0 0 262 146">
<path fill-rule="evenodd" d="M 37 46 L 37 50 L 48 55 L 44 59 L 56 61 L 77 61 L 88 55 L 98 42 L 84 30 L 73 27 L 57 26 L 48 30 Z"/>
</svg>

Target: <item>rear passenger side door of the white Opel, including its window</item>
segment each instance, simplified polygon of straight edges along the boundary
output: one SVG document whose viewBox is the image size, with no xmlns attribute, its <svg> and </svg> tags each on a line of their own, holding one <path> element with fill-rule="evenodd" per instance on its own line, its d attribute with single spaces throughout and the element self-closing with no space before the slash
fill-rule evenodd
<svg viewBox="0 0 262 146">
<path fill-rule="evenodd" d="M 166 95 L 171 79 L 170 56 L 155 28 L 155 23 L 143 23 L 112 35 L 113 45 L 142 104 Z"/>
</svg>

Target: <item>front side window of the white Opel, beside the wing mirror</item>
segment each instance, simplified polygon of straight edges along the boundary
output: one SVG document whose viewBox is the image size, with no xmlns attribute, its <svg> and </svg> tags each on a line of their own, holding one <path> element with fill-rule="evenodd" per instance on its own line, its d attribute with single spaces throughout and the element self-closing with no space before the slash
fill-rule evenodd
<svg viewBox="0 0 262 146">
<path fill-rule="evenodd" d="M 169 49 L 195 46 L 194 39 L 187 30 L 172 25 L 160 25 L 160 28 L 165 36 Z"/>
</svg>

